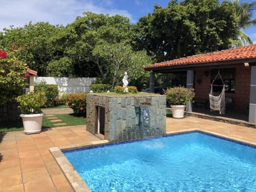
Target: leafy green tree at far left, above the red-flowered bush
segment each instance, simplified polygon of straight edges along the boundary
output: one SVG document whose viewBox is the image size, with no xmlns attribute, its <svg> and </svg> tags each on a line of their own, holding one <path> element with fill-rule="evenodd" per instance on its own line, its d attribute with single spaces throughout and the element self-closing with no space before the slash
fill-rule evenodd
<svg viewBox="0 0 256 192">
<path fill-rule="evenodd" d="M 49 61 L 55 58 L 56 49 L 52 46 L 51 38 L 61 28 L 44 22 L 30 22 L 24 27 L 4 29 L 0 36 L 0 46 L 7 50 L 17 49 L 17 58 L 38 71 L 38 75 L 45 76 Z"/>
</svg>

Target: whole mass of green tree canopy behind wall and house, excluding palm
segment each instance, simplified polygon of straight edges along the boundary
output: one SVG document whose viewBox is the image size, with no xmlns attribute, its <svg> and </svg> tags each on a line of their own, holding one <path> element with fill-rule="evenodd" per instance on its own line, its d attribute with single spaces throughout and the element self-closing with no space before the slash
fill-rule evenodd
<svg viewBox="0 0 256 192">
<path fill-rule="evenodd" d="M 132 83 L 148 81 L 143 65 L 228 49 L 239 22 L 230 2 L 172 0 L 131 24 L 129 18 L 85 12 L 67 26 L 47 22 L 0 32 L 0 47 L 39 76 L 99 77 L 113 86 L 124 71 Z"/>
</svg>

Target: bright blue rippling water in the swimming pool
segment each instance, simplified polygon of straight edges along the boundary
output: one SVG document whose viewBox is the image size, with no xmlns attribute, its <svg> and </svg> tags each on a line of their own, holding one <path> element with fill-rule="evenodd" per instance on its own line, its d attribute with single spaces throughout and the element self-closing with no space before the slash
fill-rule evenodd
<svg viewBox="0 0 256 192">
<path fill-rule="evenodd" d="M 64 154 L 92 191 L 256 191 L 256 148 L 199 132 Z"/>
</svg>

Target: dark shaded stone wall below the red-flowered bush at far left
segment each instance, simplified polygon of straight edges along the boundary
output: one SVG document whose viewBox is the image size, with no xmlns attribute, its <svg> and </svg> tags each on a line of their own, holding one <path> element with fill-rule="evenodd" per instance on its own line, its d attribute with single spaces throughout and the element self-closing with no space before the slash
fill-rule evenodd
<svg viewBox="0 0 256 192">
<path fill-rule="evenodd" d="M 4 105 L 0 105 L 0 123 L 20 121 L 20 114 L 20 109 L 16 102 L 7 102 Z"/>
</svg>

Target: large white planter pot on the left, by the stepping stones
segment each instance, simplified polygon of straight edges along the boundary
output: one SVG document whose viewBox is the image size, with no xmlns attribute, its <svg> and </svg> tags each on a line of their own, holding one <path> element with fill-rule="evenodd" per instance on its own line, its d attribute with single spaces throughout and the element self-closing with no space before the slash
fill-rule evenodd
<svg viewBox="0 0 256 192">
<path fill-rule="evenodd" d="M 20 117 L 22 118 L 22 121 L 23 121 L 24 132 L 26 134 L 40 133 L 42 128 L 43 116 L 44 116 L 44 113 L 31 114 L 31 115 L 21 114 Z"/>
</svg>

